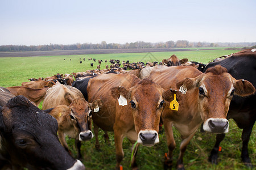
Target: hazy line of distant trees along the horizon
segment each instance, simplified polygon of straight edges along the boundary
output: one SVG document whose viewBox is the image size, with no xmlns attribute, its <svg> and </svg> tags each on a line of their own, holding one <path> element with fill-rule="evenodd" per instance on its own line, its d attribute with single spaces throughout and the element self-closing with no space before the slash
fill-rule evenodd
<svg viewBox="0 0 256 170">
<path fill-rule="evenodd" d="M 125 44 L 109 43 L 102 41 L 100 44 L 49 44 L 49 45 L 2 45 L 0 52 L 32 52 L 32 51 L 49 51 L 49 50 L 79 50 L 79 49 L 139 49 L 139 48 L 186 48 L 186 47 L 209 47 L 218 46 L 216 43 L 209 42 L 189 42 L 187 40 L 167 41 L 167 42 L 126 42 Z"/>
</svg>

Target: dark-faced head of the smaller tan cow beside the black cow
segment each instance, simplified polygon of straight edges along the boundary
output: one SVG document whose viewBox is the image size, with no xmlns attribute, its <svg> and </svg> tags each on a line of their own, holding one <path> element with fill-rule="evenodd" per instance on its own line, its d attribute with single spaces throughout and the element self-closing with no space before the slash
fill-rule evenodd
<svg viewBox="0 0 256 170">
<path fill-rule="evenodd" d="M 85 99 L 71 99 L 69 108 L 71 109 L 71 120 L 77 131 L 79 131 L 79 140 L 88 141 L 93 138 L 92 133 L 92 111 L 102 106 L 102 100 L 95 100 L 88 103 Z"/>
</svg>

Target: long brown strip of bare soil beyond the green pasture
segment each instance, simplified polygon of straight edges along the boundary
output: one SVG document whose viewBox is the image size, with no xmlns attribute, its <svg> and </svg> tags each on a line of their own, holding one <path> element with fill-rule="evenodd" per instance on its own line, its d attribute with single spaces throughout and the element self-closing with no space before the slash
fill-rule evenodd
<svg viewBox="0 0 256 170">
<path fill-rule="evenodd" d="M 157 49 L 98 49 L 98 50 L 56 50 L 46 52 L 0 52 L 0 57 L 34 57 L 34 56 L 65 56 L 82 54 L 112 54 L 112 53 L 149 53 L 149 52 L 179 52 L 189 49 L 157 48 Z"/>
</svg>

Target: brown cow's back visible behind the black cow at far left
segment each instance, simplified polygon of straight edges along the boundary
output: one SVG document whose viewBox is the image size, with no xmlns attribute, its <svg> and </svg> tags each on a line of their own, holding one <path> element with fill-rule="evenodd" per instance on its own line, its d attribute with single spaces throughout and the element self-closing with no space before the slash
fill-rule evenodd
<svg viewBox="0 0 256 170">
<path fill-rule="evenodd" d="M 13 87 L 7 87 L 7 89 L 11 92 L 11 94 L 18 96 L 22 95 L 27 97 L 30 101 L 33 101 L 36 106 L 38 107 L 40 102 L 44 99 L 44 96 L 46 96 L 46 91 L 49 87 L 44 88 L 30 88 L 25 86 L 13 86 Z"/>
</svg>

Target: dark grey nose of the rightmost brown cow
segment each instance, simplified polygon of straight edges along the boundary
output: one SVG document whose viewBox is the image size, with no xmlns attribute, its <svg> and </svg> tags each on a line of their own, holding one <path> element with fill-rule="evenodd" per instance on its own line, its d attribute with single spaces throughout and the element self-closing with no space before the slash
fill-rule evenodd
<svg viewBox="0 0 256 170">
<path fill-rule="evenodd" d="M 212 133 L 224 133 L 229 127 L 228 121 L 220 120 L 209 120 L 208 125 Z"/>
</svg>

